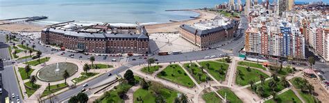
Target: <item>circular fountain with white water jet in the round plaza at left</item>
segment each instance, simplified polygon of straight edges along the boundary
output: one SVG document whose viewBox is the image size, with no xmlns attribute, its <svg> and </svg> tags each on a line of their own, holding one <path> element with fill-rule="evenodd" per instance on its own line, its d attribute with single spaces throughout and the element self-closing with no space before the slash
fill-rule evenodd
<svg viewBox="0 0 329 103">
<path fill-rule="evenodd" d="M 78 66 L 69 62 L 50 64 L 41 68 L 37 73 L 37 77 L 44 82 L 56 82 L 65 79 L 62 76 L 65 70 L 69 73 L 69 76 L 71 76 L 78 71 Z"/>
</svg>

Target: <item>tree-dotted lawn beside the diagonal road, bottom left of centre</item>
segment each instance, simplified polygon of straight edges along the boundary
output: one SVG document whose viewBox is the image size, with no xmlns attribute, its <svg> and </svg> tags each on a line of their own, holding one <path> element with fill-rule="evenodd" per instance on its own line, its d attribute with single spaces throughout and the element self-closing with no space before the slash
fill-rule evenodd
<svg viewBox="0 0 329 103">
<path fill-rule="evenodd" d="M 116 88 L 113 88 L 112 90 L 104 93 L 104 95 L 102 95 L 99 98 L 99 101 L 97 102 L 101 102 L 101 103 L 124 103 L 124 100 L 122 100 L 119 95 L 117 95 L 117 93 L 119 91 L 128 91 L 129 88 L 131 88 L 132 86 L 127 84 L 127 83 L 122 83 L 119 84 L 119 86 L 116 86 Z"/>
</svg>

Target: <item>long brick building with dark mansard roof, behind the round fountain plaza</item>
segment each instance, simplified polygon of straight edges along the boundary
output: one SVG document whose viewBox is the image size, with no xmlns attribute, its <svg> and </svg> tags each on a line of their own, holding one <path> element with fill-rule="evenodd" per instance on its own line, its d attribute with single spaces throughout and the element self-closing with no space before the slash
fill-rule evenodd
<svg viewBox="0 0 329 103">
<path fill-rule="evenodd" d="M 87 53 L 149 53 L 149 36 L 144 26 L 66 26 L 45 28 L 43 44 Z"/>
</svg>

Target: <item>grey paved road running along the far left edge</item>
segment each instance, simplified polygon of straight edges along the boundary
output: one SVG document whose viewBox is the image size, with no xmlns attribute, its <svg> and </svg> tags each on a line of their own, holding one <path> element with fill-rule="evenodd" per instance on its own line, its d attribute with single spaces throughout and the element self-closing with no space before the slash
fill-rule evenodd
<svg viewBox="0 0 329 103">
<path fill-rule="evenodd" d="M 0 41 L 6 42 L 6 37 L 0 32 Z M 15 98 L 12 98 L 12 93 L 15 95 L 19 95 L 19 100 L 22 100 L 22 95 L 19 89 L 19 85 L 17 84 L 17 78 L 15 75 L 14 68 L 11 62 L 8 62 L 8 58 L 10 58 L 10 54 L 8 52 L 8 48 L 0 48 L 0 58 L 6 59 L 3 63 L 0 63 L 3 66 L 3 69 L 0 69 L 0 73 L 2 75 L 2 84 L 3 84 L 3 93 L 0 96 L 0 102 L 4 102 L 5 97 L 10 97 L 12 102 L 16 102 Z"/>
</svg>

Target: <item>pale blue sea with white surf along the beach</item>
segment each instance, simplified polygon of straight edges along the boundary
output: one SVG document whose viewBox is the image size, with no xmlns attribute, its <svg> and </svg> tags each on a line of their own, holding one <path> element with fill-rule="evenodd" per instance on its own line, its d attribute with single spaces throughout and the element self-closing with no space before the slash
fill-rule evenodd
<svg viewBox="0 0 329 103">
<path fill-rule="evenodd" d="M 219 0 L 0 0 L 0 19 L 47 16 L 37 24 L 76 20 L 79 24 L 158 24 L 199 14 L 176 9 L 213 8 Z"/>
</svg>

